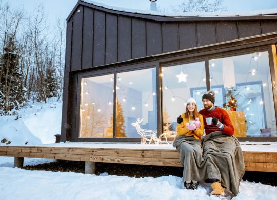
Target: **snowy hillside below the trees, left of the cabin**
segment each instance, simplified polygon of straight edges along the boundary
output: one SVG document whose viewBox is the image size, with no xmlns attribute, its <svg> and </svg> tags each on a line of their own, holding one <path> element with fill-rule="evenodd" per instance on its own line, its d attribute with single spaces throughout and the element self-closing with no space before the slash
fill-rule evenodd
<svg viewBox="0 0 277 200">
<path fill-rule="evenodd" d="M 50 98 L 46 104 L 28 104 L 16 115 L 0 116 L 0 139 L 9 145 L 54 143 L 54 135 L 61 133 L 62 102 Z"/>
</svg>

